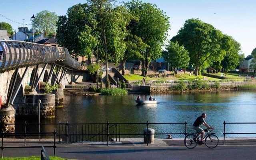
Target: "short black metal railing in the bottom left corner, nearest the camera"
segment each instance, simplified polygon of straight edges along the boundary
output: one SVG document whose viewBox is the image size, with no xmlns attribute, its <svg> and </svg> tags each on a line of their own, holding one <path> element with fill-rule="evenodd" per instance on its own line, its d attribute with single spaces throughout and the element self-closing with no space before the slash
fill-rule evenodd
<svg viewBox="0 0 256 160">
<path fill-rule="evenodd" d="M 44 136 L 53 136 L 54 137 L 54 144 L 53 146 L 44 146 L 44 148 L 53 148 L 53 152 L 54 152 L 54 157 L 56 156 L 56 135 L 57 135 L 57 132 L 56 130 L 54 132 L 34 132 L 34 133 L 0 133 L 0 136 L 2 138 L 2 142 L 1 142 L 1 157 L 3 158 L 4 157 L 4 149 L 5 148 L 42 148 L 42 146 L 26 146 L 26 136 L 29 136 L 29 135 L 44 135 Z M 24 146 L 4 146 L 4 137 L 5 136 L 24 136 Z"/>
</svg>

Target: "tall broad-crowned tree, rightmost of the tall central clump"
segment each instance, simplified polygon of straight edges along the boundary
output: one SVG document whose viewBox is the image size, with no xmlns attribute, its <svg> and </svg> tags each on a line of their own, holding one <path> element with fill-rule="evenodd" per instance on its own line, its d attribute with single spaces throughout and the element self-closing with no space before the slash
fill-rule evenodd
<svg viewBox="0 0 256 160">
<path fill-rule="evenodd" d="M 131 34 L 140 37 L 142 42 L 149 46 L 141 52 L 142 76 L 146 76 L 150 62 L 162 55 L 161 46 L 164 45 L 170 28 L 169 17 L 155 4 L 132 0 L 125 3 L 125 6 L 139 17 L 138 21 L 132 21 L 129 24 L 129 26 L 134 26 Z"/>
</svg>

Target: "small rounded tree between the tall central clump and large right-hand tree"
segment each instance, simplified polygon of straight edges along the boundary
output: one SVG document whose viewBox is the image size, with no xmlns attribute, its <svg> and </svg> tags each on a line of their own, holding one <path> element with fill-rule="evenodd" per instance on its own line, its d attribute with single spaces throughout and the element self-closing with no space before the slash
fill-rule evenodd
<svg viewBox="0 0 256 160">
<path fill-rule="evenodd" d="M 188 51 L 184 49 L 184 46 L 179 46 L 178 42 L 169 42 L 165 48 L 162 56 L 170 66 L 174 68 L 186 68 L 188 67 L 190 57 Z M 176 69 L 175 69 L 176 71 Z M 175 74 L 174 71 L 174 74 Z"/>
</svg>

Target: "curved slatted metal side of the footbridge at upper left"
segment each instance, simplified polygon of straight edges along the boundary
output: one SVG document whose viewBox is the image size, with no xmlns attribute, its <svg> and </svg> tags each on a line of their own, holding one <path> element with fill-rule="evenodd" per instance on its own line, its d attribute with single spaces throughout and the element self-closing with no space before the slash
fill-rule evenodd
<svg viewBox="0 0 256 160">
<path fill-rule="evenodd" d="M 67 48 L 47 46 L 16 40 L 0 40 L 3 49 L 0 72 L 37 64 L 56 63 L 70 70 L 86 70 L 87 64 L 72 58 Z"/>
</svg>

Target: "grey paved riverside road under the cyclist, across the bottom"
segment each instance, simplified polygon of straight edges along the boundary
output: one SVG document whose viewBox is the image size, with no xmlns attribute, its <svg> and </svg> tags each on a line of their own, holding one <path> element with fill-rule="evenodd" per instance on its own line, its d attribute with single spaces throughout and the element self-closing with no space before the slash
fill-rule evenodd
<svg viewBox="0 0 256 160">
<path fill-rule="evenodd" d="M 24 140 L 4 138 L 4 147 L 22 147 Z M 29 148 L 38 146 L 39 148 Z M 4 157 L 40 156 L 40 146 L 44 146 L 48 155 L 54 155 L 52 139 L 27 139 L 27 148 L 4 148 Z M 198 160 L 198 158 L 215 159 L 256 159 L 256 137 L 219 138 L 216 148 L 196 146 L 188 149 L 184 146 L 184 138 L 155 138 L 153 144 L 144 144 L 143 138 L 121 138 L 120 142 L 79 142 L 66 146 L 64 142 L 56 142 L 56 156 L 68 160 Z M 200 154 L 198 154 L 200 153 Z"/>
</svg>

